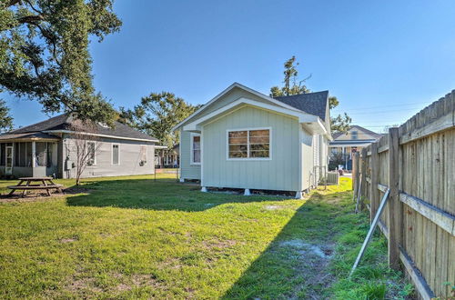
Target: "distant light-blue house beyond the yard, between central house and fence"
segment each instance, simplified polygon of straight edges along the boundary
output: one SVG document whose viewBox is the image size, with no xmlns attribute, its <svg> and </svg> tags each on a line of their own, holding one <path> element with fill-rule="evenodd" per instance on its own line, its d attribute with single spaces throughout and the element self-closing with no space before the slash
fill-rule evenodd
<svg viewBox="0 0 455 300">
<path fill-rule="evenodd" d="M 382 135 L 359 125 L 352 125 L 347 133 L 333 134 L 329 143 L 330 160 L 343 165 L 345 170 L 352 169 L 352 154 L 379 140 Z"/>
</svg>

